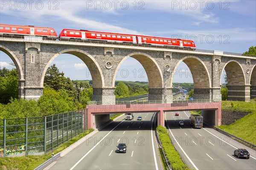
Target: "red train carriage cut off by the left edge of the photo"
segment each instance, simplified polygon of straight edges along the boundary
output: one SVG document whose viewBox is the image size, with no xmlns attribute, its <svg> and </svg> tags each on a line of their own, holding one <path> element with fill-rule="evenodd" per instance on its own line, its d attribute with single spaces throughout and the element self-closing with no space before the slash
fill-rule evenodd
<svg viewBox="0 0 256 170">
<path fill-rule="evenodd" d="M 0 24 L 0 34 L 58 37 L 53 28 Z"/>
</svg>

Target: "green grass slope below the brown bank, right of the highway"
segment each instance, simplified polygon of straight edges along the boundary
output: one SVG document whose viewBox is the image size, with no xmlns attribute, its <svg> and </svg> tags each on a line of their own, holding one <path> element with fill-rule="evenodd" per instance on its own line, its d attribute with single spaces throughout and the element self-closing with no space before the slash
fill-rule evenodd
<svg viewBox="0 0 256 170">
<path fill-rule="evenodd" d="M 231 125 L 221 125 L 218 127 L 247 142 L 256 144 L 256 111 L 244 116 Z"/>
</svg>

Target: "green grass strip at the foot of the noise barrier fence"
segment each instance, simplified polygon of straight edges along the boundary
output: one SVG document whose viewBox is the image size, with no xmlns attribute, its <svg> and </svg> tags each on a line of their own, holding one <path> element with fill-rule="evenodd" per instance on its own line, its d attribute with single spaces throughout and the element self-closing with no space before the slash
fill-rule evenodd
<svg viewBox="0 0 256 170">
<path fill-rule="evenodd" d="M 86 130 L 84 133 L 79 134 L 72 138 L 70 141 L 62 144 L 60 147 L 52 151 L 54 154 L 61 152 L 71 144 L 77 142 L 82 137 L 91 133 L 93 129 Z M 0 170 L 34 170 L 36 167 L 51 158 L 52 152 L 39 156 L 20 156 L 20 157 L 4 157 L 0 158 Z"/>
</svg>

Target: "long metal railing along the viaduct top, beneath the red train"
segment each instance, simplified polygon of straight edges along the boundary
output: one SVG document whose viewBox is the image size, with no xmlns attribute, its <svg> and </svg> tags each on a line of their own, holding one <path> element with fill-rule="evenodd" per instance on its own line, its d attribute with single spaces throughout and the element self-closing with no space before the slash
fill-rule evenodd
<svg viewBox="0 0 256 170">
<path fill-rule="evenodd" d="M 0 35 L 0 37 L 3 37 L 3 38 L 19 38 L 19 39 L 23 39 L 23 38 L 24 38 L 24 36 L 20 36 L 20 35 Z M 85 43 L 94 43 L 94 44 L 125 45 L 125 46 L 150 47 L 150 48 L 165 48 L 165 49 L 175 49 L 175 50 L 194 51 L 194 49 L 192 49 L 192 48 L 182 48 L 182 47 L 172 47 L 172 46 L 162 46 L 162 45 L 148 45 L 148 44 L 134 44 L 134 43 L 125 43 L 125 42 L 108 42 L 108 41 L 97 41 L 97 40 L 79 40 L 79 39 L 53 38 L 53 37 L 42 37 L 42 40 L 49 40 L 49 41 L 67 41 L 67 42 L 85 42 Z M 207 52 L 207 53 L 214 53 L 213 50 L 196 49 L 195 51 L 198 51 L 198 52 Z M 231 55 L 238 55 L 238 56 L 256 57 L 256 55 L 240 54 L 240 53 L 232 53 L 232 52 L 223 52 L 223 54 L 231 54 Z"/>
</svg>

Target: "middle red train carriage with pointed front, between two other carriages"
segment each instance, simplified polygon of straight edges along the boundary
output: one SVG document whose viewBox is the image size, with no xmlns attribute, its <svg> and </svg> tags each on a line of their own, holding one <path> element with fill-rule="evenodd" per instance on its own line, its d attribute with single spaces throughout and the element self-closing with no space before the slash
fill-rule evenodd
<svg viewBox="0 0 256 170">
<path fill-rule="evenodd" d="M 101 41 L 112 41 L 112 42 L 137 43 L 136 35 L 87 31 L 87 30 L 63 29 L 59 37 L 60 38 L 79 38 L 81 40 L 101 40 Z"/>
</svg>

